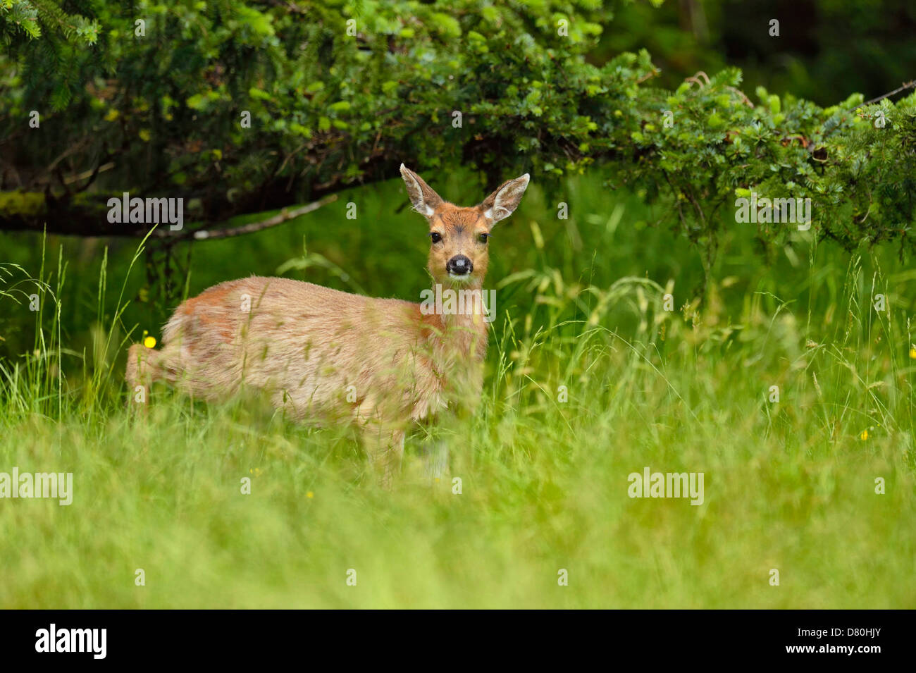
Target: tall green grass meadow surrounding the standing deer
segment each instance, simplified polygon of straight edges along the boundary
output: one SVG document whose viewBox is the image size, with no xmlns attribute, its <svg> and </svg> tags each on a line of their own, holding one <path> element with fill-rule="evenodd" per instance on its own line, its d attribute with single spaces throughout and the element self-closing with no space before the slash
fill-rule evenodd
<svg viewBox="0 0 916 673">
<path fill-rule="evenodd" d="M 392 182 L 198 244 L 180 282 L 283 273 L 419 301 L 425 225 L 404 202 Z M 136 242 L 0 237 L 0 472 L 72 472 L 74 490 L 0 500 L 0 607 L 916 606 L 916 270 L 809 233 L 760 255 L 754 225 L 726 221 L 692 303 L 701 257 L 662 214 L 598 179 L 550 197 L 535 179 L 491 243 L 479 413 L 409 437 L 392 492 L 349 431 L 258 400 L 156 388 L 132 416 L 125 344 L 168 309 Z M 420 469 L 433 441 L 451 451 L 439 483 Z M 647 466 L 703 472 L 703 505 L 630 498 Z"/>
</svg>

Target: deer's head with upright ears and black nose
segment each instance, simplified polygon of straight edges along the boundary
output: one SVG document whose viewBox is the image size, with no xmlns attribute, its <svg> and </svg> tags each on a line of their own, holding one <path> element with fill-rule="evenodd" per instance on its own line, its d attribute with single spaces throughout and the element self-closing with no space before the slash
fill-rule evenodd
<svg viewBox="0 0 916 673">
<path fill-rule="evenodd" d="M 414 210 L 430 223 L 428 267 L 435 282 L 480 288 L 489 263 L 490 230 L 518 208 L 529 174 L 507 180 L 475 206 L 461 207 L 443 201 L 404 164 L 400 170 Z"/>
</svg>

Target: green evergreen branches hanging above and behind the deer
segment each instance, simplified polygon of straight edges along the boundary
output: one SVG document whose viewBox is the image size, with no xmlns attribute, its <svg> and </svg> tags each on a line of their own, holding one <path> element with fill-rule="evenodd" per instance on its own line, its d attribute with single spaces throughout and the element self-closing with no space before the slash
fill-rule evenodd
<svg viewBox="0 0 916 673">
<path fill-rule="evenodd" d="M 710 255 L 751 194 L 811 199 L 847 248 L 912 250 L 916 97 L 821 108 L 748 96 L 734 68 L 666 91 L 646 51 L 586 58 L 618 5 L 0 0 L 0 228 L 134 234 L 104 219 L 125 190 L 213 223 L 401 161 L 548 185 L 597 164 Z"/>
</svg>

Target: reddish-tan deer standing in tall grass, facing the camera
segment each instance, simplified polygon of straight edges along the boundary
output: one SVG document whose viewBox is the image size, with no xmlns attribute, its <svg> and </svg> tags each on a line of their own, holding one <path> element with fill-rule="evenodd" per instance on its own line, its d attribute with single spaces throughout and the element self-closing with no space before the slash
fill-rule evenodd
<svg viewBox="0 0 916 673">
<path fill-rule="evenodd" d="M 518 208 L 529 174 L 469 207 L 444 201 L 403 164 L 400 174 L 429 224 L 433 288 L 479 298 L 491 230 Z M 481 301 L 463 308 L 424 310 L 283 277 L 225 281 L 175 309 L 161 349 L 132 345 L 125 380 L 129 392 L 163 381 L 208 402 L 254 389 L 297 422 L 352 423 L 390 488 L 411 424 L 449 408 L 473 413 L 480 400 L 488 320 Z"/>
</svg>

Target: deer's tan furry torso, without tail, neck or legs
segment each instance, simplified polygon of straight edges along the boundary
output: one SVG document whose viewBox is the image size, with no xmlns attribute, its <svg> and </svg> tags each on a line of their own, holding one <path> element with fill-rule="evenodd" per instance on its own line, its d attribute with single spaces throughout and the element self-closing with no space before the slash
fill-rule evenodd
<svg viewBox="0 0 916 673">
<path fill-rule="evenodd" d="M 182 303 L 163 342 L 202 396 L 244 383 L 299 417 L 386 405 L 424 416 L 438 405 L 419 307 L 398 299 L 247 277 Z"/>
</svg>

